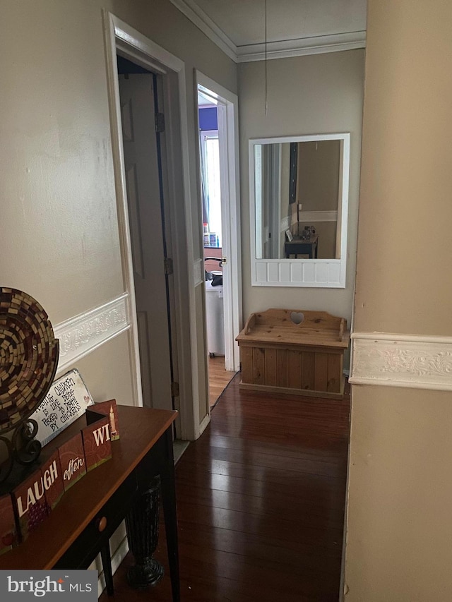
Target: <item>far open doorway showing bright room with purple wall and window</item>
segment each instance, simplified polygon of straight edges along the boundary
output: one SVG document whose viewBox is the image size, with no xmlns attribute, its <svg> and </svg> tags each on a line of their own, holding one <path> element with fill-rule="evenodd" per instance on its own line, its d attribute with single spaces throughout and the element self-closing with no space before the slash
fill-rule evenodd
<svg viewBox="0 0 452 602">
<path fill-rule="evenodd" d="M 239 369 L 235 336 L 241 309 L 237 241 L 237 195 L 234 174 L 237 149 L 232 126 L 237 115 L 232 100 L 212 80 L 197 73 L 198 126 L 203 216 L 203 259 L 206 273 L 206 338 L 209 402 L 212 407 Z M 217 90 L 213 89 L 217 88 Z M 223 91 L 230 95 L 229 92 Z M 232 97 L 234 95 L 231 95 Z M 231 108 L 231 107 L 230 107 Z M 234 107 L 237 109 L 237 104 Z M 229 122 L 229 123 L 228 123 Z M 229 127 L 229 131 L 228 131 Z"/>
</svg>

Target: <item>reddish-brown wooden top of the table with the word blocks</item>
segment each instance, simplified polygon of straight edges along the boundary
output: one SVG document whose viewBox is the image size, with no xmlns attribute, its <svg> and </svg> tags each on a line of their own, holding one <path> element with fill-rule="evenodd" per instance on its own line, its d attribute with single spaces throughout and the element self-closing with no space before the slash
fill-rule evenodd
<svg viewBox="0 0 452 602">
<path fill-rule="evenodd" d="M 0 570 L 51 569 L 171 426 L 177 412 L 118 406 L 118 416 L 120 439 L 112 441 L 112 459 L 85 474 L 26 541 L 1 555 Z M 85 425 L 83 415 L 44 447 L 42 459 Z"/>
</svg>

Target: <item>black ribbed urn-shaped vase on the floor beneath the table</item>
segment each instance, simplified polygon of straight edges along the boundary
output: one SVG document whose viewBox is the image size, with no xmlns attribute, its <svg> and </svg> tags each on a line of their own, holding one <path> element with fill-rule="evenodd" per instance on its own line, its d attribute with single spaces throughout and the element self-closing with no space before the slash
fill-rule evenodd
<svg viewBox="0 0 452 602">
<path fill-rule="evenodd" d="M 127 580 L 135 589 L 144 589 L 162 579 L 164 569 L 153 558 L 158 543 L 160 476 L 142 491 L 126 516 L 127 538 L 135 564 L 127 572 Z"/>
</svg>

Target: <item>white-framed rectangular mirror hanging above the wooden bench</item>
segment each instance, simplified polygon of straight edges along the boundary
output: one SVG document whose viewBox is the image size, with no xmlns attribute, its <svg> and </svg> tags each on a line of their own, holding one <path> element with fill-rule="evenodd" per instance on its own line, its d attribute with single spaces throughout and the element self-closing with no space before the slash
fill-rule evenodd
<svg viewBox="0 0 452 602">
<path fill-rule="evenodd" d="M 251 284 L 345 288 L 350 133 L 249 141 Z"/>
</svg>

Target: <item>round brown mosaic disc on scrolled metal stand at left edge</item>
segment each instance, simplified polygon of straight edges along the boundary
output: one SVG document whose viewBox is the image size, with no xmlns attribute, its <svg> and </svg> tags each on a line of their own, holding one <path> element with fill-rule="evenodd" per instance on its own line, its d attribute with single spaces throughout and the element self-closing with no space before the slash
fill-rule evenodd
<svg viewBox="0 0 452 602">
<path fill-rule="evenodd" d="M 28 418 L 57 371 L 58 339 L 32 296 L 0 288 L 0 433 Z"/>
</svg>

